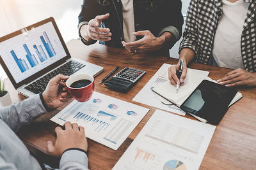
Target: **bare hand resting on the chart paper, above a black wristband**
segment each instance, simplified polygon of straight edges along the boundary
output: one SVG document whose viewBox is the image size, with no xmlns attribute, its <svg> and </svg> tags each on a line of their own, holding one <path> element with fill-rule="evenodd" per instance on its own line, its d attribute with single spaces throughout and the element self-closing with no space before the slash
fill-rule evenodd
<svg viewBox="0 0 256 170">
<path fill-rule="evenodd" d="M 65 130 L 61 129 L 61 127 L 55 128 L 57 138 L 54 144 L 51 141 L 47 141 L 49 155 L 60 158 L 62 153 L 69 148 L 79 148 L 87 152 L 88 143 L 84 134 L 84 127 L 70 122 L 66 122 L 64 127 Z"/>
</svg>

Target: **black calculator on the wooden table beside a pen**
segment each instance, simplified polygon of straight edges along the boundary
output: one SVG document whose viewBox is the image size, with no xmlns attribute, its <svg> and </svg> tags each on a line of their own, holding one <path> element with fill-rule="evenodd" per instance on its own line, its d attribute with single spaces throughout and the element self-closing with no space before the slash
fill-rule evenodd
<svg viewBox="0 0 256 170">
<path fill-rule="evenodd" d="M 144 76 L 146 71 L 125 67 L 104 83 L 109 89 L 127 93 Z"/>
</svg>

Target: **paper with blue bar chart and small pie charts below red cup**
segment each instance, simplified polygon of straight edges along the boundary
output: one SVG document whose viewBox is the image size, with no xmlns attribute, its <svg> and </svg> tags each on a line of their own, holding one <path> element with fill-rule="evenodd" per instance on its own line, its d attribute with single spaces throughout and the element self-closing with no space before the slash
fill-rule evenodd
<svg viewBox="0 0 256 170">
<path fill-rule="evenodd" d="M 67 121 L 77 123 L 84 127 L 88 138 L 117 150 L 148 111 L 136 104 L 93 92 L 89 101 L 73 101 L 51 120 L 60 125 Z"/>
</svg>

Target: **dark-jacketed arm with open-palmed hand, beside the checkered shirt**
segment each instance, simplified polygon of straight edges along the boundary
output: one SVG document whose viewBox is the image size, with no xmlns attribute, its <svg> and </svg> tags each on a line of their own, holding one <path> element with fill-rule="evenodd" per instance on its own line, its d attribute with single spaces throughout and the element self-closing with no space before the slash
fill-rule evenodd
<svg viewBox="0 0 256 170">
<path fill-rule="evenodd" d="M 182 34 L 181 1 L 166 1 L 163 8 L 163 16 L 159 18 L 160 20 L 160 24 L 155 23 L 159 26 L 159 32 L 156 35 L 148 30 L 133 32 L 135 36 L 143 36 L 143 38 L 129 43 L 122 41 L 123 46 L 132 54 L 155 52 L 163 48 L 163 46 L 172 48 Z"/>
</svg>

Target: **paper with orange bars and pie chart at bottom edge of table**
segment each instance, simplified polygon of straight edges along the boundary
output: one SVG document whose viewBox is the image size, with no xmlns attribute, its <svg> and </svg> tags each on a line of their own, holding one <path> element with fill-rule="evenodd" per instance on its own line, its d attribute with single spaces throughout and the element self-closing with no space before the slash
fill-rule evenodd
<svg viewBox="0 0 256 170">
<path fill-rule="evenodd" d="M 156 110 L 113 170 L 198 169 L 214 125 Z"/>
</svg>

